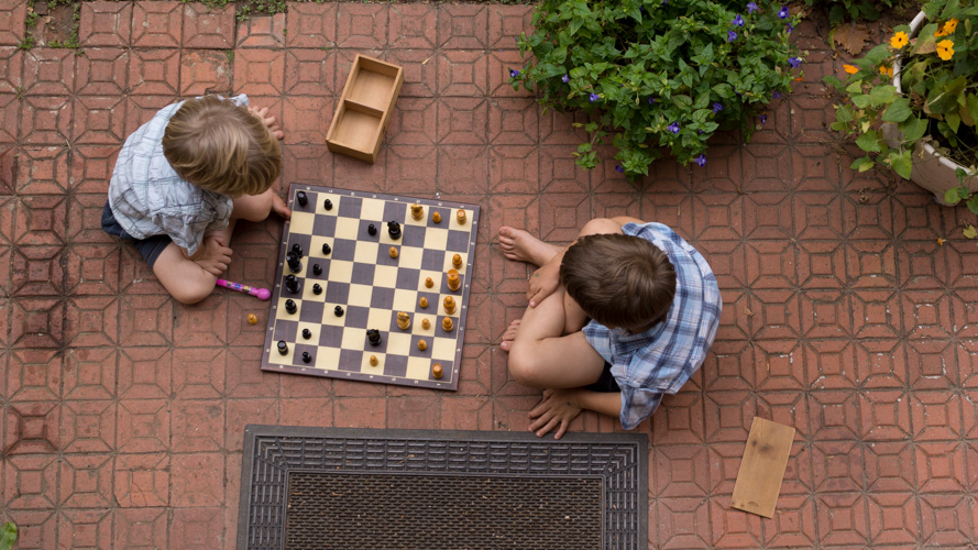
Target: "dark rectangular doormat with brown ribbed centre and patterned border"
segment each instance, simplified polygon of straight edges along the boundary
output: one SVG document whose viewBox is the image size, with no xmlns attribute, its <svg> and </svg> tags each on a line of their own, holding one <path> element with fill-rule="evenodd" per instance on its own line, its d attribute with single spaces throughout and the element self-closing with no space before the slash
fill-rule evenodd
<svg viewBox="0 0 978 550">
<path fill-rule="evenodd" d="M 648 439 L 245 427 L 239 549 L 648 548 Z"/>
</svg>

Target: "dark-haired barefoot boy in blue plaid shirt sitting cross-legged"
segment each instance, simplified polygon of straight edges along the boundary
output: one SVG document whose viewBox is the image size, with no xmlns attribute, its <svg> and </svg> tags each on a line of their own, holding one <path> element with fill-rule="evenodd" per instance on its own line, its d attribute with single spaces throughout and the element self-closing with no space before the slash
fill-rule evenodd
<svg viewBox="0 0 978 550">
<path fill-rule="evenodd" d="M 557 429 L 560 439 L 582 409 L 635 428 L 679 392 L 716 337 L 716 277 L 661 223 L 595 219 L 565 249 L 504 227 L 499 245 L 538 267 L 530 307 L 501 343 L 513 377 L 543 389 L 529 413 L 538 437 Z"/>
</svg>

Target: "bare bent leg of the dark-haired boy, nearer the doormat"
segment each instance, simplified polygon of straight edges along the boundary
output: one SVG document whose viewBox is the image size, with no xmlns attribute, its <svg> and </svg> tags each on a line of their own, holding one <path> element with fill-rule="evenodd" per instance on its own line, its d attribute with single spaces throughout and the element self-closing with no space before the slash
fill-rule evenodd
<svg viewBox="0 0 978 550">
<path fill-rule="evenodd" d="M 586 386 L 601 377 L 604 359 L 581 331 L 564 331 L 563 292 L 527 308 L 509 346 L 509 372 L 517 382 L 538 388 Z"/>
</svg>

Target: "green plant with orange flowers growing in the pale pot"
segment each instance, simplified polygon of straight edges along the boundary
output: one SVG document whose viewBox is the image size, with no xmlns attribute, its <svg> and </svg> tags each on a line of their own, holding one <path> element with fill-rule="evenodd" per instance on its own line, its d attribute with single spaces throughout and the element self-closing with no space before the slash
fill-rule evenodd
<svg viewBox="0 0 978 550">
<path fill-rule="evenodd" d="M 824 78 L 847 100 L 836 106 L 831 128 L 855 136 L 867 153 L 853 169 L 882 164 L 909 179 L 912 152 L 919 142 L 928 142 L 976 172 L 978 6 L 975 0 L 935 0 L 924 12 L 927 21 L 913 40 L 909 26 L 898 26 L 887 44 L 845 66 L 851 73 L 845 81 Z M 893 86 L 893 70 L 900 72 L 902 92 Z"/>
</svg>

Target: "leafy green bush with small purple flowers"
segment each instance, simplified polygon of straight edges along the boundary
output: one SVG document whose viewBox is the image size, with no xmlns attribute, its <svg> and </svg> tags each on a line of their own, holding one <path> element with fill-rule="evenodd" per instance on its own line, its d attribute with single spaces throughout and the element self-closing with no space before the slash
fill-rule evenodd
<svg viewBox="0 0 978 550">
<path fill-rule="evenodd" d="M 801 63 L 789 44 L 798 16 L 780 3 L 757 7 L 748 10 L 746 0 L 543 0 L 535 32 L 517 40 L 524 57 L 532 57 L 510 69 L 509 81 L 535 90 L 545 110 L 591 116 L 579 166 L 594 167 L 596 146 L 608 136 L 617 169 L 629 178 L 647 175 L 663 151 L 683 164 L 702 163 L 716 131 L 739 127 L 749 140 L 772 96 L 791 91 L 789 59 Z"/>
</svg>

